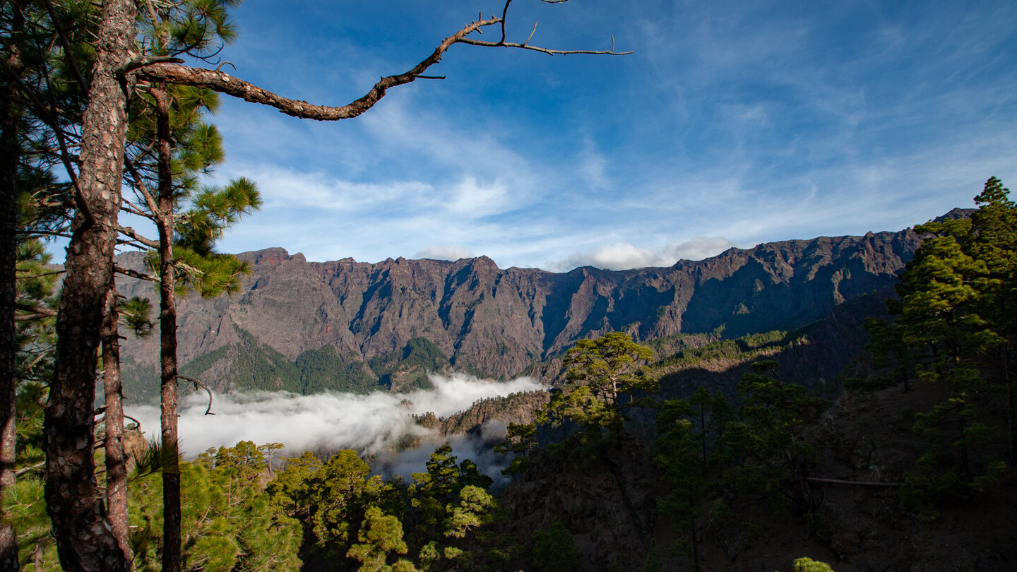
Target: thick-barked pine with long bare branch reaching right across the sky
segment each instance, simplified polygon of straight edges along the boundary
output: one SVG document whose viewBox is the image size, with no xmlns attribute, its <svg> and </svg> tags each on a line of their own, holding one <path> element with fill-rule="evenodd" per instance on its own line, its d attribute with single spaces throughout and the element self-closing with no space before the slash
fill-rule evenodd
<svg viewBox="0 0 1017 572">
<path fill-rule="evenodd" d="M 47 455 L 50 458 L 48 478 L 46 480 L 46 497 L 48 510 L 54 523 L 54 535 L 57 539 L 62 565 L 68 572 L 77 570 L 109 570 L 120 571 L 128 568 L 128 563 L 122 551 L 117 546 L 116 538 L 110 533 L 110 528 L 101 500 L 96 494 L 93 483 L 95 466 L 91 457 L 93 442 L 93 399 L 96 381 L 96 355 L 101 339 L 102 321 L 106 307 L 107 292 L 114 272 L 113 256 L 118 241 L 118 212 L 122 206 L 121 185 L 125 164 L 125 146 L 129 118 L 127 116 L 128 87 L 138 87 L 147 83 L 153 87 L 153 96 L 162 90 L 165 83 L 176 85 L 201 85 L 220 93 L 227 93 L 247 101 L 271 105 L 278 109 L 302 118 L 319 120 L 341 120 L 357 117 L 373 107 L 394 87 L 409 83 L 431 66 L 437 63 L 441 56 L 454 44 L 465 43 L 488 47 L 512 47 L 517 49 L 539 50 L 544 53 L 602 53 L 616 54 L 613 51 L 560 51 L 549 50 L 530 44 L 504 42 L 486 42 L 467 38 L 481 27 L 503 25 L 508 2 L 500 17 L 481 19 L 465 25 L 456 34 L 446 38 L 427 58 L 422 60 L 406 73 L 381 78 L 364 97 L 350 105 L 342 107 L 324 107 L 298 102 L 280 97 L 261 90 L 239 78 L 229 76 L 219 69 L 199 69 L 182 65 L 180 60 L 172 58 L 167 52 L 163 55 L 159 50 L 168 48 L 170 40 L 179 40 L 181 44 L 192 46 L 194 50 L 203 50 L 212 46 L 214 40 L 207 40 L 206 34 L 214 33 L 225 38 L 219 25 L 219 15 L 225 13 L 228 6 L 235 5 L 234 0 L 222 2 L 194 0 L 194 10 L 188 11 L 187 2 L 179 3 L 145 3 L 142 7 L 148 10 L 144 18 L 138 18 L 137 3 L 132 0 L 105 0 L 101 10 L 89 12 L 91 18 L 85 21 L 95 25 L 91 44 L 89 63 L 86 69 L 91 74 L 86 80 L 79 81 L 81 93 L 87 92 L 83 112 L 80 115 L 74 132 L 79 134 L 77 161 L 73 163 L 70 157 L 65 157 L 68 178 L 73 183 L 74 204 L 76 213 L 71 225 L 70 245 L 65 261 L 66 275 L 64 278 L 64 296 L 61 298 L 59 318 L 57 321 L 57 359 L 54 381 L 51 386 L 51 404 L 47 409 L 45 431 L 47 435 Z M 4 10 L 11 3 L 4 3 Z M 14 3 L 15 7 L 21 3 Z M 50 6 L 47 3 L 47 6 Z M 78 5 L 76 2 L 61 3 L 63 6 Z M 80 3 L 92 8 L 92 3 Z M 155 8 L 160 10 L 176 10 L 182 15 L 168 22 Z M 192 17 L 193 16 L 193 17 Z M 151 22 L 152 34 L 148 44 L 139 46 L 138 22 Z M 184 22 L 178 33 L 166 35 L 173 25 Z M 225 24 L 226 20 L 222 19 Z M 147 25 L 147 24 L 144 24 Z M 60 36 L 60 35 L 58 35 Z M 64 38 L 60 37 L 61 42 Z M 70 45 L 70 43 L 68 43 Z M 142 49 L 139 49 L 142 48 Z M 80 71 L 85 67 L 73 58 L 73 50 L 65 49 L 63 61 L 68 69 Z M 200 57 L 200 53 L 198 56 Z M 81 73 L 77 74 L 81 76 Z M 161 106 L 162 107 L 162 106 Z M 9 114 L 8 114 L 9 115 Z M 165 124 L 163 113 L 161 123 Z M 59 131 L 58 131 L 59 132 Z M 160 137 L 165 141 L 165 137 Z M 160 164 L 171 163 L 166 153 L 166 146 L 160 145 Z M 66 154 L 65 154 L 66 155 Z M 74 172 L 74 166 L 78 167 Z M 165 169 L 164 169 L 165 173 Z M 161 181 L 165 181 L 163 178 Z M 162 191 L 162 188 L 160 188 Z M 170 243 L 172 225 L 165 224 L 167 219 L 167 203 L 158 206 L 163 215 L 163 229 L 160 241 Z M 164 249 L 161 264 L 170 264 L 169 252 Z M 171 287 L 174 280 L 163 280 L 164 287 Z M 163 312 L 165 316 L 165 312 Z M 167 322 L 167 325 L 169 321 Z M 165 328 L 164 331 L 169 330 Z M 0 356 L 5 357 L 5 356 Z M 164 367 L 164 382 L 168 386 L 175 384 L 175 376 L 171 376 L 169 362 Z M 175 388 L 168 388 L 172 390 Z M 172 391 L 167 391 L 167 394 Z M 173 419 L 167 416 L 168 426 Z M 175 436 L 170 436 L 175 437 Z M 170 440 L 175 442 L 174 439 Z M 171 463 L 172 459 L 168 459 Z M 172 480 L 172 479 L 171 479 Z M 170 483 L 172 484 L 172 482 Z M 172 495 L 172 493 L 171 493 Z M 170 501 L 172 511 L 172 500 Z M 172 517 L 173 515 L 171 515 Z M 173 528 L 171 523 L 170 528 Z M 172 538 L 170 544 L 176 544 Z M 172 554 L 166 563 L 167 572 L 179 568 L 173 562 Z"/>
</svg>

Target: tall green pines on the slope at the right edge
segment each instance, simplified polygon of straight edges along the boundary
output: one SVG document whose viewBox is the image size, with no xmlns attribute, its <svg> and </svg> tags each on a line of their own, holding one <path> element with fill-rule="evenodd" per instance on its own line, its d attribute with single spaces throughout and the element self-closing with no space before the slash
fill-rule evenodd
<svg viewBox="0 0 1017 572">
<path fill-rule="evenodd" d="M 974 201 L 970 218 L 915 227 L 929 237 L 891 300 L 897 318 L 869 323 L 884 384 L 915 379 L 944 397 L 915 415 L 929 448 L 902 492 L 928 518 L 996 482 L 1017 453 L 1017 206 L 995 177 Z"/>
</svg>

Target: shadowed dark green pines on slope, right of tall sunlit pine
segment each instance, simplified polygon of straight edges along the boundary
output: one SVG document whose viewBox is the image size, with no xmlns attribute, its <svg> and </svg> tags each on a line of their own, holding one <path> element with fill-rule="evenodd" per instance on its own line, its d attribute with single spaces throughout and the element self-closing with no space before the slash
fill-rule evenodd
<svg viewBox="0 0 1017 572">
<path fill-rule="evenodd" d="M 704 520 L 726 519 L 732 505 L 798 514 L 814 508 L 802 479 L 813 451 L 801 431 L 827 402 L 782 383 L 776 365 L 753 363 L 738 384 L 737 409 L 700 388 L 689 400 L 665 401 L 657 416 L 655 461 L 669 485 L 659 508 L 680 534 L 673 550 L 691 557 L 696 570 Z"/>
</svg>

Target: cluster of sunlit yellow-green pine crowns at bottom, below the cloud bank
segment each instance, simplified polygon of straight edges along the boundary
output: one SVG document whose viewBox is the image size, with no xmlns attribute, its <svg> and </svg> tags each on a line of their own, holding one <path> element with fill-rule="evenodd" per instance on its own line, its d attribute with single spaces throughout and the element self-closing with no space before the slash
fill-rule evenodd
<svg viewBox="0 0 1017 572">
<path fill-rule="evenodd" d="M 313 539 L 305 550 L 339 570 L 436 571 L 503 561 L 506 549 L 481 533 L 496 510 L 486 491 L 490 477 L 469 459 L 458 462 L 447 444 L 426 468 L 407 487 L 371 475 L 355 451 L 323 462 L 304 453 L 287 460 L 266 492 L 274 506 L 303 523 Z"/>
</svg>

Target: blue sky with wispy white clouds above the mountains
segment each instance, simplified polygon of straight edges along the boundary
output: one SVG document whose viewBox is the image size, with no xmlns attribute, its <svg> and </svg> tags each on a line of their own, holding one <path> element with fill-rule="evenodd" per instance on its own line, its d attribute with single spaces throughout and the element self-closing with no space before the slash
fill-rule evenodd
<svg viewBox="0 0 1017 572">
<path fill-rule="evenodd" d="M 247 0 L 230 72 L 343 105 L 488 0 Z M 309 260 L 668 266 L 736 245 L 899 230 L 1017 185 L 1017 3 L 516 0 L 363 116 L 224 98 L 227 163 L 264 206 L 220 243 Z M 488 30 L 482 38 L 496 39 Z M 227 68 L 229 69 L 229 68 Z M 1015 186 L 1017 188 L 1017 186 Z"/>
</svg>

